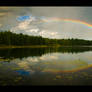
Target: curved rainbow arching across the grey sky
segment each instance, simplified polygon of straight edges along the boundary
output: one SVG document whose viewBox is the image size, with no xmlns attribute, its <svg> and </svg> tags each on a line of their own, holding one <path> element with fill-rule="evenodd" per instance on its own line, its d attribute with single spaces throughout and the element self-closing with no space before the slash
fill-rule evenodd
<svg viewBox="0 0 92 92">
<path fill-rule="evenodd" d="M 63 18 L 47 18 L 47 19 L 43 19 L 44 22 L 72 22 L 72 23 L 78 23 L 78 24 L 83 24 L 87 27 L 91 27 L 92 28 L 92 24 L 89 24 L 87 22 L 81 21 L 81 20 L 73 20 L 73 19 L 63 19 Z"/>
</svg>

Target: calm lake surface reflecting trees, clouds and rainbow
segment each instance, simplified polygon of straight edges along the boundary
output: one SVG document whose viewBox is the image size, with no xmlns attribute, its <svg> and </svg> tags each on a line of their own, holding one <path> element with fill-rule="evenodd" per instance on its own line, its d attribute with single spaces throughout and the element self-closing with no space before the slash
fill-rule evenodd
<svg viewBox="0 0 92 92">
<path fill-rule="evenodd" d="M 0 85 L 92 85 L 92 47 L 0 49 Z"/>
</svg>

